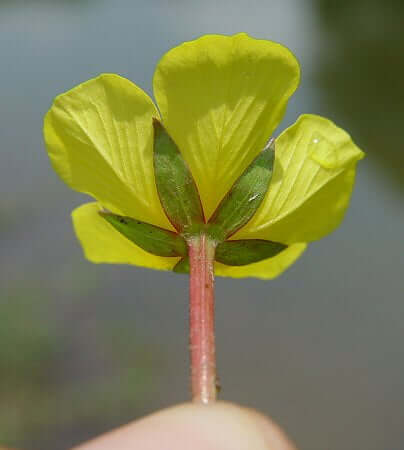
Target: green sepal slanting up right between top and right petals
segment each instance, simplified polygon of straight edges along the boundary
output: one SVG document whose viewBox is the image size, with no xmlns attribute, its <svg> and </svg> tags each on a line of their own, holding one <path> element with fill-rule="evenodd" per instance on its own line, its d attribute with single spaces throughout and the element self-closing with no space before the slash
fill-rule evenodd
<svg viewBox="0 0 404 450">
<path fill-rule="evenodd" d="M 233 235 L 255 214 L 268 191 L 274 159 L 271 139 L 220 202 L 209 220 L 209 233 L 218 241 Z"/>
</svg>

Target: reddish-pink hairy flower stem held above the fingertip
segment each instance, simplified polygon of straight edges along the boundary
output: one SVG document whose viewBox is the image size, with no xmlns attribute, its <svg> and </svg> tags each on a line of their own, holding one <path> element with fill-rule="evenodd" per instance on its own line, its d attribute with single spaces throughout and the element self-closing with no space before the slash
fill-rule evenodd
<svg viewBox="0 0 404 450">
<path fill-rule="evenodd" d="M 216 400 L 215 244 L 205 235 L 188 242 L 190 264 L 189 345 L 192 401 Z"/>
</svg>

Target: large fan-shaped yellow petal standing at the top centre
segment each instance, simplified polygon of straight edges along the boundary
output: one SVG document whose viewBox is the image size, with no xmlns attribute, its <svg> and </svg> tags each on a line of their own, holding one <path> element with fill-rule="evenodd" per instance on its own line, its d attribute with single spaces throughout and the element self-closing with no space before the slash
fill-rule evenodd
<svg viewBox="0 0 404 450">
<path fill-rule="evenodd" d="M 287 48 L 244 33 L 204 36 L 163 56 L 154 95 L 207 217 L 263 149 L 298 82 Z"/>
</svg>

